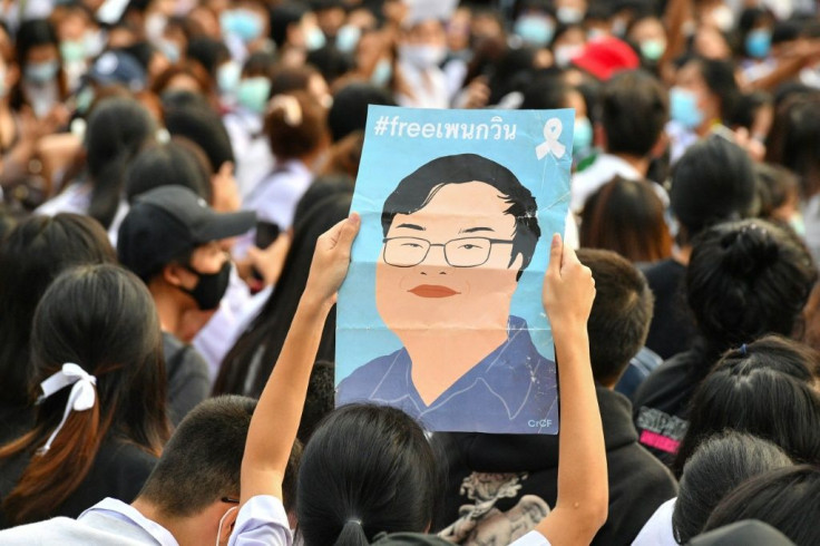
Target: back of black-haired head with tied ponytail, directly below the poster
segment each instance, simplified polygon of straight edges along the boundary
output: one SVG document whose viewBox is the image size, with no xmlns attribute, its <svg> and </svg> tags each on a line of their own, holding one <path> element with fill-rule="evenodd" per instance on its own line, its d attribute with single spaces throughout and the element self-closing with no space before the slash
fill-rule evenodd
<svg viewBox="0 0 820 546">
<path fill-rule="evenodd" d="M 385 406 L 345 406 L 316 429 L 299 472 L 296 511 L 308 546 L 369 544 L 424 532 L 440 487 L 423 430 Z"/>
</svg>

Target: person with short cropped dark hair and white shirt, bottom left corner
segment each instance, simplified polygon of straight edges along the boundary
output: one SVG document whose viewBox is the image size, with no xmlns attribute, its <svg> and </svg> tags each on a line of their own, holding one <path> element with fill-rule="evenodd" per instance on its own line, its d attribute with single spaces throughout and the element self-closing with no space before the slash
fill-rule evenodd
<svg viewBox="0 0 820 546">
<path fill-rule="evenodd" d="M 58 517 L 0 533 L 4 545 L 118 544 L 188 546 L 227 544 L 240 501 L 240 467 L 256 401 L 212 398 L 179 425 L 139 496 L 130 505 L 106 498 L 77 519 Z M 207 454 L 203 457 L 203 454 Z M 294 511 L 301 446 L 294 446 L 283 491 L 283 516 Z M 289 476 L 290 475 L 290 476 Z M 206 478 L 206 479 L 203 479 Z M 292 518 L 295 521 L 295 518 Z"/>
</svg>

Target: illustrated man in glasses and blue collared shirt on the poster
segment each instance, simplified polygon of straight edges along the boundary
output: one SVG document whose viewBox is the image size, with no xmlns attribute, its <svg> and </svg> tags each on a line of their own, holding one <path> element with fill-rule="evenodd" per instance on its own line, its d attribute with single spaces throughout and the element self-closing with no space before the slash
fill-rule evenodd
<svg viewBox="0 0 820 546">
<path fill-rule="evenodd" d="M 338 404 L 399 407 L 429 430 L 557 426 L 555 363 L 510 314 L 540 236 L 530 191 L 480 155 L 439 157 L 399 183 L 381 224 L 375 304 L 403 347 L 342 380 Z"/>
</svg>

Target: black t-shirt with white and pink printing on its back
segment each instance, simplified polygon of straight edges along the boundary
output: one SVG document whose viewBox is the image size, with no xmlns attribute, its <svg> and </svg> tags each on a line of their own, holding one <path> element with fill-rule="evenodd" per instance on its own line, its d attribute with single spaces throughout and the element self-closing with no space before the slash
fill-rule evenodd
<svg viewBox="0 0 820 546">
<path fill-rule="evenodd" d="M 689 404 L 716 357 L 694 348 L 666 360 L 635 391 L 633 417 L 641 445 L 671 465 L 689 428 Z"/>
</svg>

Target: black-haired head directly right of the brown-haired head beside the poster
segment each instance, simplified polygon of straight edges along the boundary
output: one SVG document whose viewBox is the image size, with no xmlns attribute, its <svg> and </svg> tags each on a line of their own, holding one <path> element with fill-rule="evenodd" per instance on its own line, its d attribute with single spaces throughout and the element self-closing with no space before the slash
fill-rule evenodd
<svg viewBox="0 0 820 546">
<path fill-rule="evenodd" d="M 753 199 L 751 159 L 720 136 L 692 145 L 672 174 L 670 206 L 685 230 L 684 243 L 711 225 L 742 218 Z"/>
</svg>

